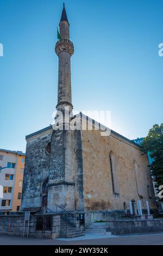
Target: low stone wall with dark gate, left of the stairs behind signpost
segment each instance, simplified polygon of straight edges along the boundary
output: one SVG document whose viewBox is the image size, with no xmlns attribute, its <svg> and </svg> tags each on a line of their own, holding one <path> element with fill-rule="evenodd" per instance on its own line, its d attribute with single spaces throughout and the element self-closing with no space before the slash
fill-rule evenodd
<svg viewBox="0 0 163 256">
<path fill-rule="evenodd" d="M 50 225 L 48 230 L 44 226 L 43 230 L 36 227 L 38 218 L 43 218 L 43 215 L 31 215 L 29 222 L 29 236 L 45 237 L 55 239 L 60 237 L 60 215 L 44 215 L 49 217 Z M 25 229 L 25 236 L 27 236 L 27 223 Z M 9 235 L 23 236 L 24 230 L 24 215 L 1 215 L 0 216 L 0 233 Z"/>
</svg>

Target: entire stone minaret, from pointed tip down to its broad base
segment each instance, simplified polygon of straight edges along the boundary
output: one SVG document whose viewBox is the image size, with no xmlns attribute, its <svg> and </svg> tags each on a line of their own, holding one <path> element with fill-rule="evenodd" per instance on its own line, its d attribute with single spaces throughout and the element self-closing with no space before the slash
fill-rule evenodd
<svg viewBox="0 0 163 256">
<path fill-rule="evenodd" d="M 61 39 L 55 45 L 55 52 L 59 57 L 58 104 L 56 107 L 58 113 L 55 116 L 55 121 L 59 119 L 59 111 L 62 112 L 64 120 L 61 120 L 63 126 L 53 129 L 51 136 L 48 208 L 52 211 L 56 210 L 55 205 L 68 211 L 75 209 L 74 168 L 76 164 L 74 163 L 74 145 L 76 142 L 74 141 L 74 131 L 69 129 L 72 118 L 72 115 L 69 114 L 73 109 L 71 101 L 71 56 L 74 48 L 70 41 L 69 26 L 64 5 L 59 23 Z"/>
</svg>

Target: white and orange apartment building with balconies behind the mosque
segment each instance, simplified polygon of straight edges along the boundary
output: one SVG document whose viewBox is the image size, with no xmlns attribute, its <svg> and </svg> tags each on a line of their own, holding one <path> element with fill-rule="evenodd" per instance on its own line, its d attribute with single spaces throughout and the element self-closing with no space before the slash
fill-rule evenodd
<svg viewBox="0 0 163 256">
<path fill-rule="evenodd" d="M 0 212 L 20 211 L 25 156 L 0 149 Z"/>
</svg>

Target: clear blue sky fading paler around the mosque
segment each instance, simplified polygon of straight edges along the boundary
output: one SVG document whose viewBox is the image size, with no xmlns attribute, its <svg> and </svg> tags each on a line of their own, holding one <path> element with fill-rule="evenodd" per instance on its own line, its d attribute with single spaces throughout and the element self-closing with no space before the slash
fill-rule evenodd
<svg viewBox="0 0 163 256">
<path fill-rule="evenodd" d="M 60 0 L 0 0 L 0 148 L 26 149 L 25 136 L 52 123 L 57 105 L 54 46 Z M 162 122 L 162 0 L 65 0 L 75 110 L 110 110 L 129 139 Z"/>
</svg>

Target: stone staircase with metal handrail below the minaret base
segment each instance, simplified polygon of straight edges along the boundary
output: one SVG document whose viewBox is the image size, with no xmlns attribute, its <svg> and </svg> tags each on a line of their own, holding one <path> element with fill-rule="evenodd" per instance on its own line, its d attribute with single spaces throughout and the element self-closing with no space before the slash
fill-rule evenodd
<svg viewBox="0 0 163 256">
<path fill-rule="evenodd" d="M 61 218 L 60 221 L 61 237 L 74 238 L 85 235 L 82 232 L 80 232 L 80 230 L 73 227 L 73 225 L 70 224 L 67 220 Z"/>
</svg>

